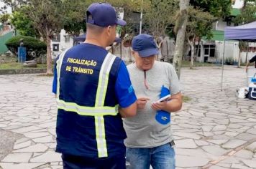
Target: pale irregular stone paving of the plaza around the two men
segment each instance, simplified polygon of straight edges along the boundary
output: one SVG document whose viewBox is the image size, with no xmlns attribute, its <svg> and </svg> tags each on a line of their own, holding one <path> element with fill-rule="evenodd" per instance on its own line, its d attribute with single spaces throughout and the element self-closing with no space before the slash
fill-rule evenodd
<svg viewBox="0 0 256 169">
<path fill-rule="evenodd" d="M 256 168 L 256 101 L 238 99 L 244 69 L 183 69 L 191 101 L 172 115 L 177 168 Z M 55 153 L 56 106 L 52 77 L 0 76 L 0 168 L 62 168 Z"/>
</svg>

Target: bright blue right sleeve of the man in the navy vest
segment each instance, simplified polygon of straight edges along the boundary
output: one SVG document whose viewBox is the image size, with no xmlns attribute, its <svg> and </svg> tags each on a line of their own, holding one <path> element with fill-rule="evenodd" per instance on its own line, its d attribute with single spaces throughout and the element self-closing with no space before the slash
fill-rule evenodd
<svg viewBox="0 0 256 169">
<path fill-rule="evenodd" d="M 131 79 L 129 79 L 127 67 L 124 62 L 122 62 L 119 67 L 115 84 L 115 92 L 120 107 L 129 107 L 137 100 L 132 87 Z"/>
</svg>

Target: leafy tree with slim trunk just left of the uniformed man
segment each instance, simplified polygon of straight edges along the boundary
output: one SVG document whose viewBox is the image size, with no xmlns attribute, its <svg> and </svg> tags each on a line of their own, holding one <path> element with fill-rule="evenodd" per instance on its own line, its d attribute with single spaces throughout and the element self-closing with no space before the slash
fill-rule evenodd
<svg viewBox="0 0 256 169">
<path fill-rule="evenodd" d="M 7 1 L 7 0 L 4 0 Z M 8 0 L 9 1 L 9 0 Z M 47 44 L 47 72 L 52 74 L 50 42 L 53 34 L 63 27 L 63 1 L 61 0 L 19 0 L 16 9 L 26 8 L 24 14 L 32 21 L 35 30 Z"/>
</svg>

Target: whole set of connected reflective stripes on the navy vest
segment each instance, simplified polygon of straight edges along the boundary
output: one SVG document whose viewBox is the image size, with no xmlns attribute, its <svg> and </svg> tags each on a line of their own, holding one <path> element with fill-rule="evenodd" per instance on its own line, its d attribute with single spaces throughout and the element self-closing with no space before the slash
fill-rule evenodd
<svg viewBox="0 0 256 169">
<path fill-rule="evenodd" d="M 66 51 L 65 51 L 66 52 Z M 106 133 L 105 133 L 105 124 L 104 124 L 104 115 L 117 115 L 118 105 L 115 107 L 106 107 L 104 106 L 104 101 L 106 98 L 106 90 L 109 83 L 109 72 L 114 63 L 116 57 L 113 54 L 108 53 L 104 59 L 104 62 L 101 65 L 101 70 L 99 74 L 99 83 L 96 92 L 95 107 L 86 107 L 77 105 L 74 102 L 65 102 L 59 100 L 60 95 L 60 69 L 63 62 L 63 57 L 65 55 L 61 54 L 60 59 L 58 60 L 58 87 L 57 87 L 57 105 L 58 109 L 63 109 L 70 112 L 77 112 L 78 115 L 88 115 L 94 116 L 95 118 L 95 131 L 96 131 L 96 142 L 99 158 L 107 157 L 108 152 L 106 148 Z"/>
</svg>

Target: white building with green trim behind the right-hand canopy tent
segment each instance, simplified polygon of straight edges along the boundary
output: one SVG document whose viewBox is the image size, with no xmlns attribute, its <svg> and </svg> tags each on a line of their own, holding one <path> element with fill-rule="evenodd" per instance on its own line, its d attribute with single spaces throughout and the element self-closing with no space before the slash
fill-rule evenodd
<svg viewBox="0 0 256 169">
<path fill-rule="evenodd" d="M 239 58 L 239 42 L 226 41 L 224 52 L 224 29 L 227 26 L 237 26 L 232 22 L 232 19 L 239 15 L 242 7 L 244 6 L 244 0 L 233 0 L 232 11 L 229 17 L 225 20 L 219 20 L 214 23 L 213 26 L 213 38 L 211 41 L 203 40 L 199 45 L 200 54 L 196 57 L 198 62 L 214 62 L 221 63 L 224 53 L 224 63 L 232 62 L 237 64 Z M 248 59 L 252 58 L 256 53 L 256 44 L 249 43 L 248 52 L 241 52 L 242 63 L 245 63 Z"/>
</svg>

